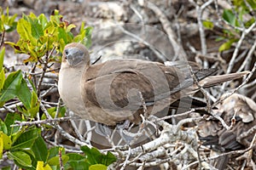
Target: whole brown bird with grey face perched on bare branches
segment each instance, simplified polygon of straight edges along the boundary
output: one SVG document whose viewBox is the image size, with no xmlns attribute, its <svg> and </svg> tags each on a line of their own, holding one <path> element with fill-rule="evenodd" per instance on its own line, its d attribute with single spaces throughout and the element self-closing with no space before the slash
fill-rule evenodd
<svg viewBox="0 0 256 170">
<path fill-rule="evenodd" d="M 62 53 L 58 91 L 67 108 L 82 119 L 107 126 L 125 121 L 138 124 L 140 115 L 145 114 L 143 105 L 147 114 L 153 115 L 195 93 L 199 86 L 208 88 L 248 73 L 212 76 L 216 71 L 181 61 L 165 65 L 142 59 L 112 59 L 91 64 L 88 49 L 71 42 Z"/>
</svg>

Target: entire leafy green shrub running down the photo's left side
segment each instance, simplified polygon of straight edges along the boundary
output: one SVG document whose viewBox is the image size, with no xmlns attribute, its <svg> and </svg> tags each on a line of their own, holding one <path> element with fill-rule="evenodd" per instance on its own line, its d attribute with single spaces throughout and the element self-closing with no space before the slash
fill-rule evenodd
<svg viewBox="0 0 256 170">
<path fill-rule="evenodd" d="M 44 14 L 23 14 L 19 20 L 15 20 L 17 14 L 9 16 L 9 9 L 3 14 L 0 8 L 0 33 L 17 31 L 20 36 L 18 42 L 4 42 L 14 48 L 15 53 L 27 54 L 24 63 L 33 65 L 34 68 L 43 71 L 51 71 L 50 63 L 61 62 L 61 51 L 67 43 L 81 42 L 87 48 L 91 44 L 92 27 L 81 25 L 78 35 L 73 35 L 76 26 L 63 20 L 59 11 L 55 10 L 49 19 Z M 2 43 L 2 42 L 1 42 Z M 40 105 L 40 82 L 29 73 L 18 71 L 7 71 L 3 65 L 5 48 L 0 46 L 0 108 L 12 101 L 20 101 L 14 112 L 9 112 L 4 120 L 0 119 L 0 159 L 7 155 L 18 167 L 23 169 L 107 169 L 108 165 L 116 161 L 116 158 L 108 152 L 102 154 L 96 148 L 82 146 L 83 154 L 67 153 L 62 147 L 55 146 L 47 148 L 42 137 L 42 130 L 48 129 L 49 125 L 18 127 L 18 122 L 30 122 L 35 119 L 46 119 L 39 115 Z M 39 85 L 38 85 L 39 84 Z M 64 116 L 65 107 L 47 109 L 52 117 Z M 5 169 L 10 169 L 6 167 Z"/>
</svg>

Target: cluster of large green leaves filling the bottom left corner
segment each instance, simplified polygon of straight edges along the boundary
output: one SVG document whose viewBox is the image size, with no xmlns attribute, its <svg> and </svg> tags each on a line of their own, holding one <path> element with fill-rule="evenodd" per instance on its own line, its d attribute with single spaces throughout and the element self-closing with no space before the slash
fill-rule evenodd
<svg viewBox="0 0 256 170">
<path fill-rule="evenodd" d="M 0 158 L 3 151 L 10 160 L 24 169 L 60 169 L 60 159 L 65 169 L 107 169 L 108 165 L 116 161 L 110 152 L 102 154 L 96 148 L 82 146 L 84 154 L 66 153 L 59 146 L 47 149 L 41 130 L 37 127 L 12 127 L 15 120 L 22 121 L 22 117 L 15 113 L 6 116 L 4 122 L 0 120 Z"/>
</svg>

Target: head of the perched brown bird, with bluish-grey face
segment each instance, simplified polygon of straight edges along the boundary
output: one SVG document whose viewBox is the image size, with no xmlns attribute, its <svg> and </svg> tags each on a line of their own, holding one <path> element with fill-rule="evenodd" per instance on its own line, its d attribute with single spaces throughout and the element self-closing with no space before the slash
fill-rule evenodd
<svg viewBox="0 0 256 170">
<path fill-rule="evenodd" d="M 90 54 L 83 44 L 72 42 L 63 50 L 62 63 L 67 63 L 69 66 L 89 65 Z"/>
</svg>

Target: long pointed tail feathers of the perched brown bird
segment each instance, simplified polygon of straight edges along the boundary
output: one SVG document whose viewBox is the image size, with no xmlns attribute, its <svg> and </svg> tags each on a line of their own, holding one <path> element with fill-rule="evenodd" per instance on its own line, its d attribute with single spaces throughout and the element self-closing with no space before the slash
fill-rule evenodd
<svg viewBox="0 0 256 170">
<path fill-rule="evenodd" d="M 206 77 L 199 82 L 199 85 L 203 88 L 210 88 L 210 87 L 215 86 L 222 82 L 227 82 L 230 80 L 235 80 L 235 79 L 241 78 L 249 73 L 250 73 L 250 71 L 242 71 L 239 73 L 230 73 L 230 74 L 226 74 L 226 75 Z"/>
</svg>

